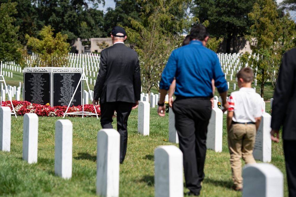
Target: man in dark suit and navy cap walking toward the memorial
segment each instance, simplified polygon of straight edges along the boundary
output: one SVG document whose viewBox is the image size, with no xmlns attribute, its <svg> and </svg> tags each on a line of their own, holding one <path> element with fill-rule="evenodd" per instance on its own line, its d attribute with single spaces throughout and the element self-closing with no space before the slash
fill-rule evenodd
<svg viewBox="0 0 296 197">
<path fill-rule="evenodd" d="M 94 106 L 101 105 L 102 128 L 112 127 L 112 116 L 117 113 L 120 133 L 120 163 L 126 155 L 127 121 L 132 109 L 138 107 L 141 93 L 139 58 L 136 51 L 124 45 L 126 32 L 122 27 L 111 31 L 113 46 L 101 51 L 99 74 L 94 86 Z"/>
</svg>

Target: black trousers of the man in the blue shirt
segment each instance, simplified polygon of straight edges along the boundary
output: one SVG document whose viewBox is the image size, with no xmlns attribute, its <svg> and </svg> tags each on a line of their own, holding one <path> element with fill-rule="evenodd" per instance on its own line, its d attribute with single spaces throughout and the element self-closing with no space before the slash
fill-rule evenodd
<svg viewBox="0 0 296 197">
<path fill-rule="evenodd" d="M 211 102 L 209 98 L 178 97 L 173 102 L 173 111 L 179 146 L 183 152 L 186 187 L 193 193 L 200 193 L 200 183 L 205 177 L 203 170 Z"/>
</svg>

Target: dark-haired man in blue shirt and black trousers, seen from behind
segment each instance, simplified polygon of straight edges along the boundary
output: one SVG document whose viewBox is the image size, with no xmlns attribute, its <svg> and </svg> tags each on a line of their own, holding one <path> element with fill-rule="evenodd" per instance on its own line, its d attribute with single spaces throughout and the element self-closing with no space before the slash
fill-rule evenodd
<svg viewBox="0 0 296 197">
<path fill-rule="evenodd" d="M 222 97 L 224 111 L 228 109 L 227 83 L 217 54 L 205 47 L 208 38 L 205 26 L 195 25 L 190 31 L 189 45 L 171 53 L 162 73 L 158 102 L 158 114 L 164 116 L 165 95 L 176 77 L 175 126 L 183 152 L 186 187 L 190 190 L 188 194 L 194 196 L 200 194 L 200 183 L 205 177 L 207 125 L 213 103 L 212 79 Z"/>
</svg>

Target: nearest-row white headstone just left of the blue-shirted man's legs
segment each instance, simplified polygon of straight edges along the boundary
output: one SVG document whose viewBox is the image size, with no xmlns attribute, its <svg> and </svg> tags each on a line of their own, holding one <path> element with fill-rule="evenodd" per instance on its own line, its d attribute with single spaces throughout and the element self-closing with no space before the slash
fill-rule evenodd
<svg viewBox="0 0 296 197">
<path fill-rule="evenodd" d="M 184 196 L 183 154 L 176 146 L 158 146 L 154 151 L 155 197 Z"/>
</svg>

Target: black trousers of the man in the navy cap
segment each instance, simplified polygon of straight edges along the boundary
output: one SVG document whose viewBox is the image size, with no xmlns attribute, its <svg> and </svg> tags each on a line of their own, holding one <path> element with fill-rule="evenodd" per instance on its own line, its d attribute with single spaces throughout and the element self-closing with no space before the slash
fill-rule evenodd
<svg viewBox="0 0 296 197">
<path fill-rule="evenodd" d="M 120 163 L 126 156 L 128 143 L 128 116 L 131 113 L 133 103 L 130 102 L 105 102 L 101 104 L 101 126 L 102 128 L 113 128 L 112 116 L 114 111 L 117 113 L 117 131 L 120 134 Z"/>
</svg>

